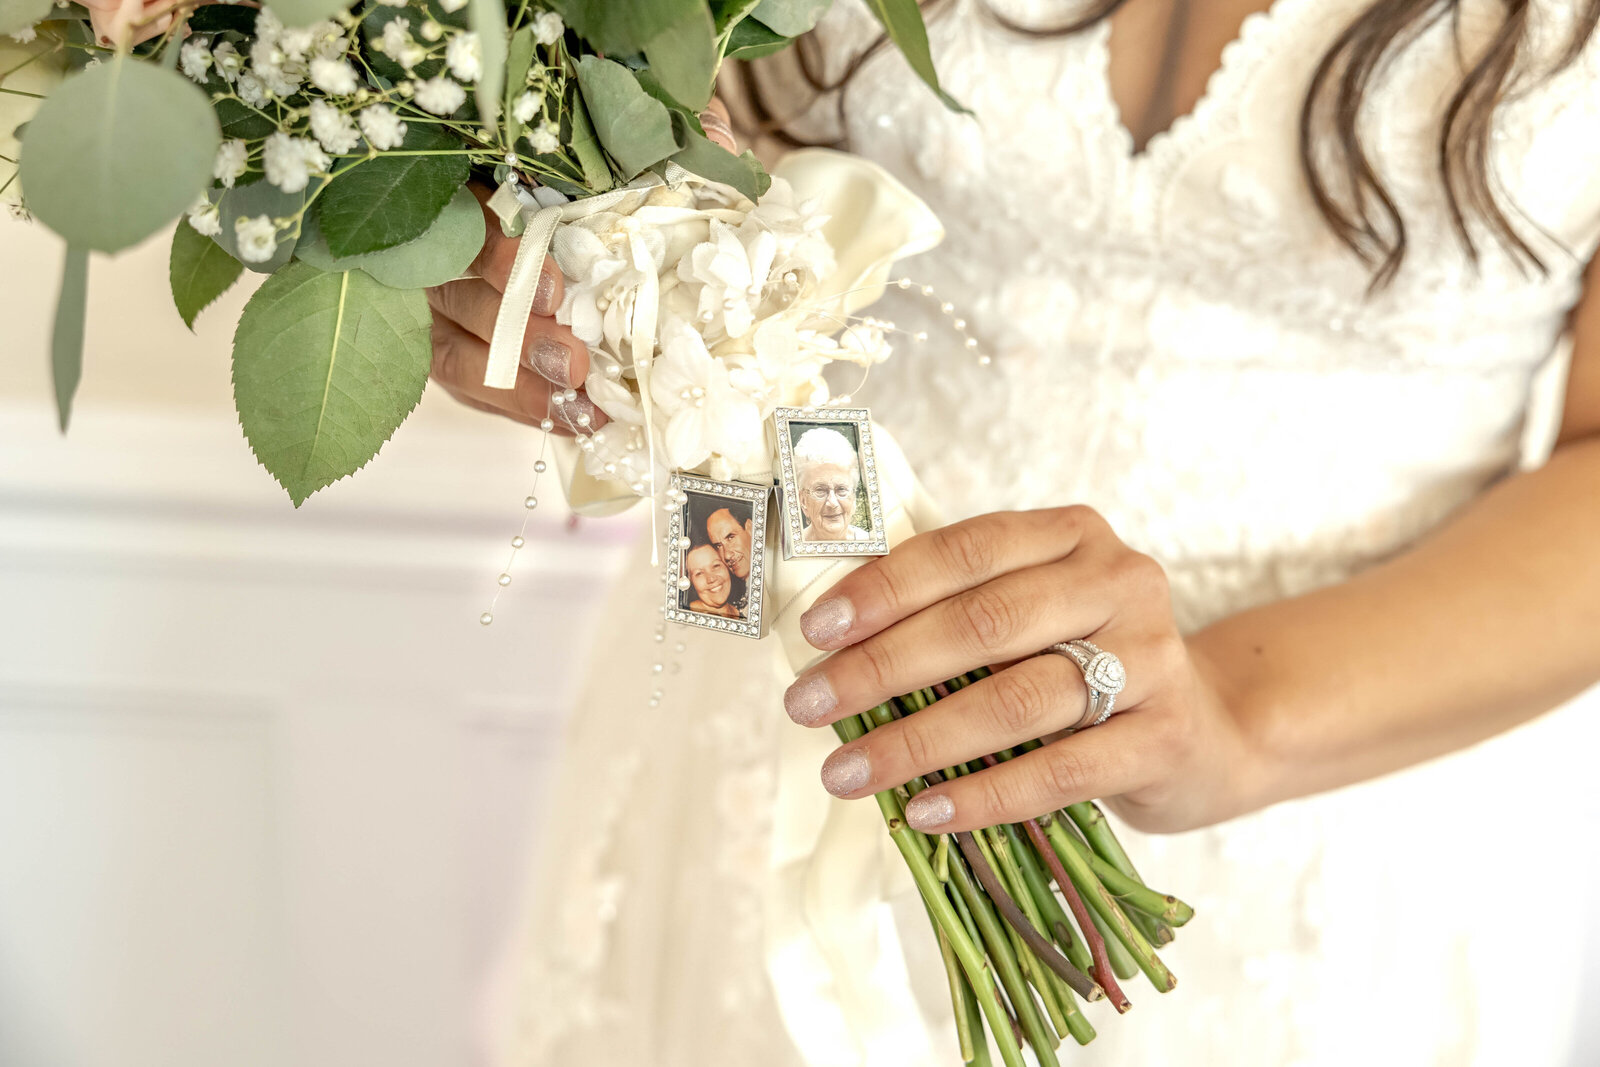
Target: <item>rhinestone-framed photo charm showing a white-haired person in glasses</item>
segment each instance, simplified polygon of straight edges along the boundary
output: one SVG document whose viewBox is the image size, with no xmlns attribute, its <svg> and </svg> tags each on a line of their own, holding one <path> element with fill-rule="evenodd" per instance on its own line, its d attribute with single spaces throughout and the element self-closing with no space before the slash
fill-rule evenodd
<svg viewBox="0 0 1600 1067">
<path fill-rule="evenodd" d="M 890 550 L 866 408 L 778 408 L 784 558 Z"/>
</svg>

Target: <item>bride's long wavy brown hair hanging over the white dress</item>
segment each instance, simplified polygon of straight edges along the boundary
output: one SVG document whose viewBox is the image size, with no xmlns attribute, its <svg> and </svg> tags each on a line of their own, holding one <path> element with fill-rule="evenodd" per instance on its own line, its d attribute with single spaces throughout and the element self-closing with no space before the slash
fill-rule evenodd
<svg viewBox="0 0 1600 1067">
<path fill-rule="evenodd" d="M 930 13 L 944 6 L 944 0 L 918 2 Z M 1126 0 L 1090 0 L 1083 14 L 1051 27 L 1022 26 L 987 5 L 984 10 L 1008 30 L 1040 38 L 1075 34 L 1110 18 L 1123 3 Z M 1560 74 L 1578 59 L 1600 22 L 1600 0 L 1587 0 L 1582 11 L 1574 14 L 1571 37 L 1554 62 L 1542 70 L 1525 70 L 1518 66 L 1530 32 L 1531 0 L 1501 0 L 1501 3 L 1506 11 L 1504 19 L 1467 69 L 1445 109 L 1437 146 L 1438 176 L 1451 224 L 1474 264 L 1478 262 L 1478 245 L 1469 229 L 1469 219 L 1488 224 L 1514 262 L 1547 274 L 1544 259 L 1507 218 L 1502 194 L 1494 187 L 1490 170 L 1491 123 L 1501 101 Z M 1373 267 L 1373 290 L 1386 286 L 1400 270 L 1406 254 L 1406 226 L 1394 195 L 1366 155 L 1357 131 L 1357 117 L 1373 80 L 1395 56 L 1445 18 L 1458 32 L 1459 54 L 1461 0 L 1373 0 L 1318 61 L 1301 104 L 1299 158 L 1312 200 L 1333 234 Z M 819 74 L 819 46 L 810 35 L 797 42 L 792 53 L 811 90 L 819 98 L 834 94 L 842 115 L 842 90 L 867 59 L 886 46 L 888 38 L 880 35 L 853 56 L 834 78 Z M 741 62 L 736 69 L 746 107 L 760 131 L 790 146 L 842 144 L 842 138 L 805 141 L 794 136 L 789 118 L 773 115 L 752 66 Z M 1315 150 L 1318 144 L 1330 144 L 1334 152 L 1318 154 Z M 1342 195 L 1336 195 L 1334 189 L 1342 190 Z M 1510 210 L 1517 211 L 1515 205 Z M 1526 221 L 1526 216 L 1522 218 Z"/>
</svg>

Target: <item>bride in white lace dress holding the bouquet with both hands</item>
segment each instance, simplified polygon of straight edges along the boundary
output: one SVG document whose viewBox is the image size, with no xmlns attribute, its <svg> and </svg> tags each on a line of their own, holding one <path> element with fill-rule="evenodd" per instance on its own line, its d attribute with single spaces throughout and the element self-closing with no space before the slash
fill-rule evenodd
<svg viewBox="0 0 1600 1067">
<path fill-rule="evenodd" d="M 661 629 L 648 560 L 624 577 L 507 953 L 509 1064 L 954 1062 L 920 904 L 832 829 L 883 837 L 872 790 L 1074 726 L 1082 675 L 1030 653 L 1085 635 L 1126 664 L 1107 723 L 914 805 L 957 830 L 1104 798 L 1195 905 L 1176 992 L 1130 982 L 1064 1059 L 1565 1062 L 1600 806 L 1573 699 L 1600 678 L 1600 3 L 1090 6 L 930 6 L 974 117 L 864 5 L 814 32 L 846 146 L 949 232 L 907 272 L 994 352 L 941 352 L 915 293 L 872 309 L 931 339 L 856 395 L 960 522 L 824 593 L 834 654 L 787 694 L 771 641 Z M 805 106 L 781 85 L 770 126 Z M 514 394 L 472 386 L 509 254 L 435 291 L 435 378 L 538 422 L 586 374 L 554 320 Z M 832 718 L 1010 661 L 816 781 Z"/>
</svg>

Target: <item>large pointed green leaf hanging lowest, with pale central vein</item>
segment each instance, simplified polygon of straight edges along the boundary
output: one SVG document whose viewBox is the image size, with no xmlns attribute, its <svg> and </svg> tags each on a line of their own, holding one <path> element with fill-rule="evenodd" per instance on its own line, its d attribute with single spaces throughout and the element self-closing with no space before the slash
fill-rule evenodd
<svg viewBox="0 0 1600 1067">
<path fill-rule="evenodd" d="M 421 290 L 291 262 L 234 333 L 234 403 L 294 507 L 366 466 L 422 398 L 432 358 Z"/>
</svg>

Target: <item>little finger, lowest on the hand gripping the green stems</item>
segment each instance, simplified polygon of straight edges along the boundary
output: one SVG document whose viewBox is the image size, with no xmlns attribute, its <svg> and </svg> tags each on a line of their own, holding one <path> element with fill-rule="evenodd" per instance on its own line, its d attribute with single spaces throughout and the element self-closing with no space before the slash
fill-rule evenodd
<svg viewBox="0 0 1600 1067">
<path fill-rule="evenodd" d="M 906 821 L 955 833 L 1146 789 L 1170 769 L 1166 728 L 1166 717 L 1149 710 L 1112 715 L 1101 726 L 922 790 L 906 805 Z"/>
</svg>

